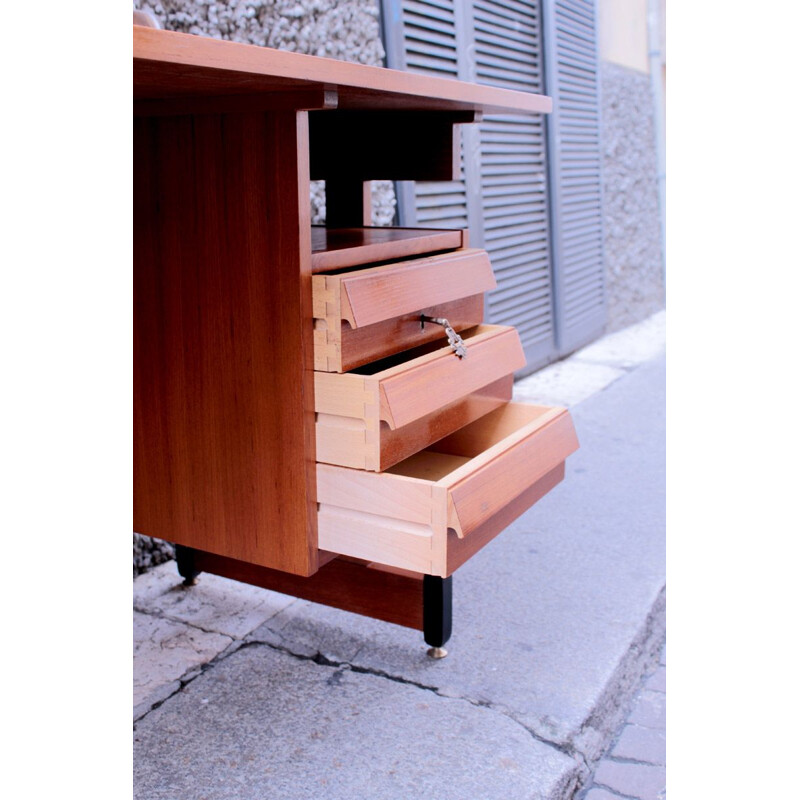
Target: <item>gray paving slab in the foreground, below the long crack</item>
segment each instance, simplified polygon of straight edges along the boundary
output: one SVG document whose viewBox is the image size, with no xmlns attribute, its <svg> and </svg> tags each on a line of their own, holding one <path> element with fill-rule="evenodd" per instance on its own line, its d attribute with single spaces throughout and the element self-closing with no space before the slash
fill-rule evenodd
<svg viewBox="0 0 800 800">
<path fill-rule="evenodd" d="M 509 717 L 245 647 L 135 726 L 137 800 L 571 796 L 575 762 Z"/>
</svg>

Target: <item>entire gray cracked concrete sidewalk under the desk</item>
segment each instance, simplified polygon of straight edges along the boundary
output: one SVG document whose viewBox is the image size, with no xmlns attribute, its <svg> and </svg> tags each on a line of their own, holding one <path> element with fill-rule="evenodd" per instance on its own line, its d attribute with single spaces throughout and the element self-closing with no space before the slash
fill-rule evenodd
<svg viewBox="0 0 800 800">
<path fill-rule="evenodd" d="M 565 481 L 420 633 L 174 564 L 134 582 L 139 800 L 572 798 L 664 639 L 660 313 L 520 381 L 571 406 Z"/>
</svg>

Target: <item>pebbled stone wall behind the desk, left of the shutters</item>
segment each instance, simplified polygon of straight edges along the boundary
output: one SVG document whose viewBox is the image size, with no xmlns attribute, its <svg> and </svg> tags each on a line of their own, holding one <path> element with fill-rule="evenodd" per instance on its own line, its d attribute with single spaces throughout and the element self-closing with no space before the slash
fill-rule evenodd
<svg viewBox="0 0 800 800">
<path fill-rule="evenodd" d="M 134 0 L 165 30 L 274 47 L 359 64 L 382 66 L 378 0 Z M 373 181 L 373 225 L 390 225 L 395 196 L 391 181 Z M 325 185 L 311 187 L 312 221 L 325 221 Z M 168 542 L 133 535 L 133 574 L 174 557 Z"/>
</svg>

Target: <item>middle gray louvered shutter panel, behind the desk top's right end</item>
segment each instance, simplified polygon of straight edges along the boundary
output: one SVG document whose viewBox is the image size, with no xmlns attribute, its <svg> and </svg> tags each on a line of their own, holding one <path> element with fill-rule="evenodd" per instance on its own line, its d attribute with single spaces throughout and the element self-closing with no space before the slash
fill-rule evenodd
<svg viewBox="0 0 800 800">
<path fill-rule="evenodd" d="M 539 0 L 472 6 L 474 80 L 543 93 Z M 531 372 L 555 351 L 544 119 L 489 116 L 480 139 L 484 247 L 497 276 L 489 319 L 517 328 Z"/>
</svg>

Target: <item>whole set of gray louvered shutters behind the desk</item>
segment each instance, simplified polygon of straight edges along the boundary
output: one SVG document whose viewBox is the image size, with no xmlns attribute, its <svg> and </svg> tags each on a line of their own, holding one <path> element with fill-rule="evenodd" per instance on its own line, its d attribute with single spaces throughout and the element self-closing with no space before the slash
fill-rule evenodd
<svg viewBox="0 0 800 800">
<path fill-rule="evenodd" d="M 543 92 L 554 112 L 465 126 L 462 179 L 399 184 L 400 222 L 467 224 L 498 286 L 489 321 L 520 332 L 526 371 L 605 325 L 594 0 L 383 0 L 388 66 Z M 547 151 L 547 152 L 546 152 Z"/>
</svg>

